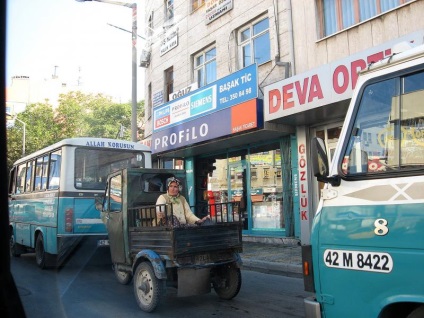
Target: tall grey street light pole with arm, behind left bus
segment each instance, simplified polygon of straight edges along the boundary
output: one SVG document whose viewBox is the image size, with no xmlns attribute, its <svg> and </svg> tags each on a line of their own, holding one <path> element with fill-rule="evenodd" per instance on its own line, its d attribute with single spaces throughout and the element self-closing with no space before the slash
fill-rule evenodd
<svg viewBox="0 0 424 318">
<path fill-rule="evenodd" d="M 132 9 L 132 94 L 131 94 L 131 140 L 137 141 L 137 3 L 125 3 L 114 0 L 76 0 L 78 2 L 97 1 L 115 4 Z"/>
</svg>

